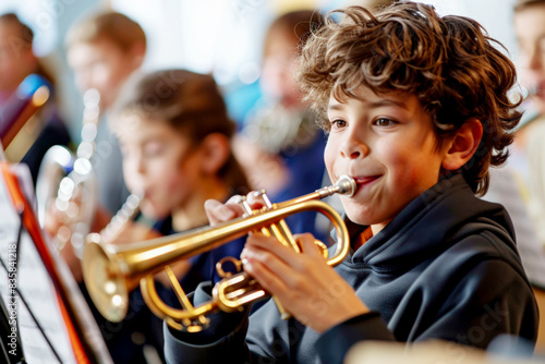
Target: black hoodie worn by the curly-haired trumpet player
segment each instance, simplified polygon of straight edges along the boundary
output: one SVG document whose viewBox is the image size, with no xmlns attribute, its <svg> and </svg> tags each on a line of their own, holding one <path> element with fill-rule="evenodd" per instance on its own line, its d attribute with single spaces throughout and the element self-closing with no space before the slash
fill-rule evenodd
<svg viewBox="0 0 545 364">
<path fill-rule="evenodd" d="M 349 229 L 355 236 L 364 227 Z M 268 302 L 251 315 L 245 338 L 244 318 L 223 337 L 215 323 L 207 344 L 202 338 L 198 344 L 180 341 L 166 330 L 167 359 L 341 363 L 360 340 L 443 339 L 486 348 L 510 333 L 535 342 L 537 307 L 513 240 L 501 205 L 476 198 L 461 175 L 443 180 L 336 267 L 372 313 L 320 335 L 280 319 Z M 232 316 L 227 321 L 235 326 Z"/>
</svg>

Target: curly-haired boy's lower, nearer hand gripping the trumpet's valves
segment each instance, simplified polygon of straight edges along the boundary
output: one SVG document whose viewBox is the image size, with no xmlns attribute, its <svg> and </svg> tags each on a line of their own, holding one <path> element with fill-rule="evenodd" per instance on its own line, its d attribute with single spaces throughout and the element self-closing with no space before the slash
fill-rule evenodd
<svg viewBox="0 0 545 364">
<path fill-rule="evenodd" d="M 302 253 L 261 233 L 249 236 L 244 270 L 277 296 L 298 320 L 324 332 L 368 312 L 354 290 L 326 264 L 312 234 L 295 235 Z"/>
</svg>

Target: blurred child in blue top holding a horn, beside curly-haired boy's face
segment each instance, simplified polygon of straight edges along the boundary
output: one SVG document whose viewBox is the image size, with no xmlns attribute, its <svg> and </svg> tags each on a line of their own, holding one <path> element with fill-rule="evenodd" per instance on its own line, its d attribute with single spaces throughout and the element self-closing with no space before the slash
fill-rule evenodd
<svg viewBox="0 0 545 364">
<path fill-rule="evenodd" d="M 252 187 L 266 190 L 274 202 L 304 195 L 324 183 L 326 138 L 293 80 L 301 47 L 322 25 L 322 15 L 312 10 L 286 13 L 269 25 L 259 80 L 263 97 L 234 143 Z M 303 213 L 287 222 L 293 232 L 313 231 L 326 240 L 327 229 L 317 228 L 315 219 L 315 213 Z"/>
</svg>

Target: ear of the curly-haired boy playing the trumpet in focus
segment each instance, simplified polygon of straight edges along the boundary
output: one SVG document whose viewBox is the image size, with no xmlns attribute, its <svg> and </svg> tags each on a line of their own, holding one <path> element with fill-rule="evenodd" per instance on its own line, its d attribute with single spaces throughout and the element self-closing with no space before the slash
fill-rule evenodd
<svg viewBox="0 0 545 364">
<path fill-rule="evenodd" d="M 443 159 L 443 168 L 457 170 L 465 165 L 475 154 L 483 137 L 483 124 L 477 119 L 469 119 L 456 132 L 449 149 Z"/>
</svg>

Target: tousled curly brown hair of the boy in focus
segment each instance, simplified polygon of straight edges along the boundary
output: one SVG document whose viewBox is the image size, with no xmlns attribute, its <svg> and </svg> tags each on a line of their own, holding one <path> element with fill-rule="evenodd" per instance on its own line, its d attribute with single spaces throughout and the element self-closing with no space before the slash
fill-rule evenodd
<svg viewBox="0 0 545 364">
<path fill-rule="evenodd" d="M 303 49 L 296 81 L 323 120 L 330 96 L 355 97 L 359 86 L 415 95 L 438 145 L 467 120 L 480 120 L 483 138 L 461 172 L 474 193 L 484 194 L 488 167 L 506 161 L 510 131 L 521 118 L 521 98 L 509 97 L 514 65 L 495 45 L 502 47 L 474 20 L 441 17 L 431 5 L 395 2 L 375 13 L 350 7 L 326 15 Z"/>
</svg>

